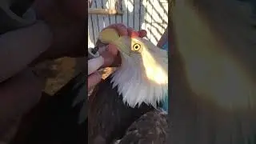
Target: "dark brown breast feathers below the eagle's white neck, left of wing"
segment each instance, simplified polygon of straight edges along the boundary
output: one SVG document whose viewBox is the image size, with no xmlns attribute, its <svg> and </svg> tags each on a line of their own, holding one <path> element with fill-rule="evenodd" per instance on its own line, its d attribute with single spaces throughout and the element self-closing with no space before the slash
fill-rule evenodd
<svg viewBox="0 0 256 144">
<path fill-rule="evenodd" d="M 143 103 L 131 108 L 122 102 L 117 87 L 112 88 L 111 75 L 100 82 L 89 100 L 88 138 L 89 143 L 109 144 L 122 138 L 126 129 L 153 107 Z"/>
</svg>

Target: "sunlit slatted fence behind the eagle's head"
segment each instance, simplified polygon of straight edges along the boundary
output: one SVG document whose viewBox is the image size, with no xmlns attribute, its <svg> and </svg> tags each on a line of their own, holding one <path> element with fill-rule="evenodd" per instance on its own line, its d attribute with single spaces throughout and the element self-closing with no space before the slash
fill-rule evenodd
<svg viewBox="0 0 256 144">
<path fill-rule="evenodd" d="M 88 10 L 88 46 L 94 46 L 98 33 L 114 23 L 134 30 L 146 30 L 146 38 L 157 45 L 168 25 L 168 0 L 90 1 Z"/>
</svg>

